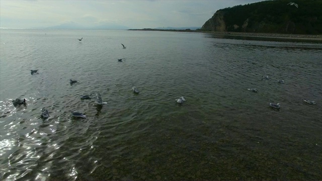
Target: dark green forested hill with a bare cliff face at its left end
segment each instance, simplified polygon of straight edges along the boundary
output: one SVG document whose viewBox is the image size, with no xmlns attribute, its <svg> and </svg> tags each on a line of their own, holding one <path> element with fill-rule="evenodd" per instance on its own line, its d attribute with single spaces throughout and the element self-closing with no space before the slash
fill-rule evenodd
<svg viewBox="0 0 322 181">
<path fill-rule="evenodd" d="M 287 5 L 293 2 L 298 5 Z M 204 31 L 322 34 L 322 0 L 274 0 L 218 10 Z"/>
</svg>

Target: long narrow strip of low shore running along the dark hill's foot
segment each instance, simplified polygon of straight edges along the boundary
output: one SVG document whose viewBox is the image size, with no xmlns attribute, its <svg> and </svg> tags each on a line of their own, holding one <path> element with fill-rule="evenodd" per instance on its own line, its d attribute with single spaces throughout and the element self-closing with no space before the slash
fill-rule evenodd
<svg viewBox="0 0 322 181">
<path fill-rule="evenodd" d="M 191 33 L 211 33 L 225 36 L 247 36 L 247 37 L 267 37 L 267 38 L 285 38 L 285 39 L 306 39 L 306 40 L 320 40 L 322 35 L 296 35 L 296 34 L 277 34 L 277 33 L 245 33 L 245 32 L 213 32 L 200 30 L 162 30 L 162 29 L 129 29 L 133 31 L 171 31 L 171 32 L 191 32 Z"/>
</svg>

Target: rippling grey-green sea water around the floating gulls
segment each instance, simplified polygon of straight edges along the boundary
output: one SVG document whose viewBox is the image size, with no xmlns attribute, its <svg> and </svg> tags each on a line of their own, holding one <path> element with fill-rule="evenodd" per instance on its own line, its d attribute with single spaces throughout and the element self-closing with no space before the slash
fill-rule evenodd
<svg viewBox="0 0 322 181">
<path fill-rule="evenodd" d="M 322 42 L 0 33 L 1 180 L 322 179 Z M 98 91 L 103 107 L 80 99 Z"/>
</svg>

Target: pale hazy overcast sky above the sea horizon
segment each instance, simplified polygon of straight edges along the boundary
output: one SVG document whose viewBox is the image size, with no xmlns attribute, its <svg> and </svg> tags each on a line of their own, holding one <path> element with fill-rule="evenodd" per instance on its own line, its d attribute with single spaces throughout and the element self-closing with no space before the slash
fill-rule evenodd
<svg viewBox="0 0 322 181">
<path fill-rule="evenodd" d="M 0 0 L 0 28 L 201 27 L 219 10 L 263 0 Z"/>
</svg>

